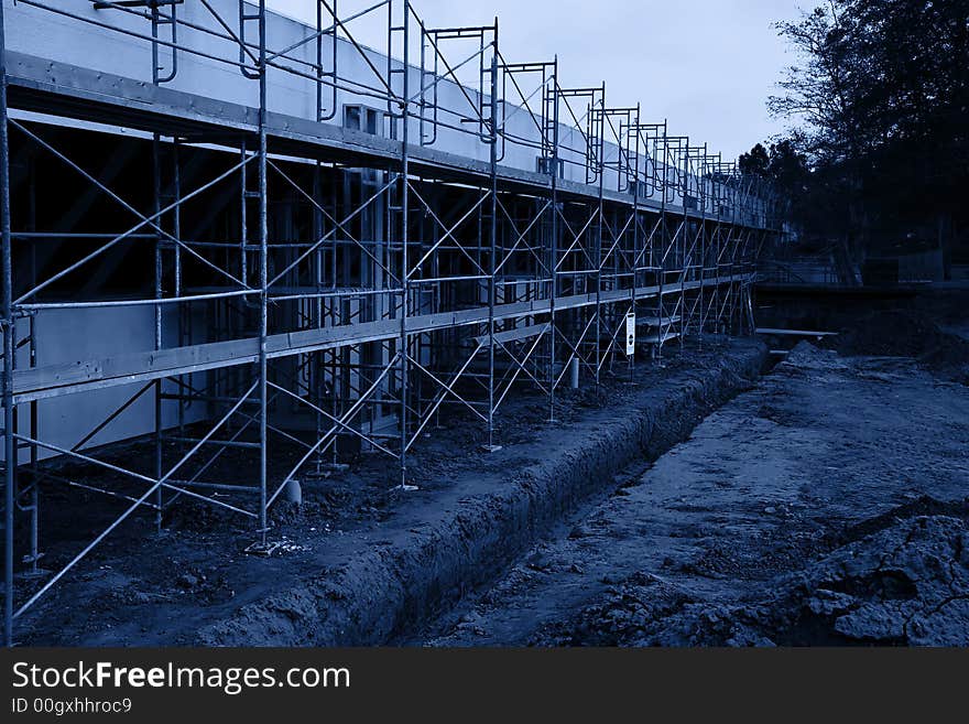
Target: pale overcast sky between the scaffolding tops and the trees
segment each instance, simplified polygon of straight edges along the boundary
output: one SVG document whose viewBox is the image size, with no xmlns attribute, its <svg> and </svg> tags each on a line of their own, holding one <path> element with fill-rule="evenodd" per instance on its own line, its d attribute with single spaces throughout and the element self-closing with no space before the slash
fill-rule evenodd
<svg viewBox="0 0 969 724">
<path fill-rule="evenodd" d="M 374 0 L 340 0 L 340 15 Z M 315 22 L 312 0 L 266 0 Z M 794 57 L 773 24 L 813 0 L 413 0 L 429 28 L 499 18 L 510 63 L 552 60 L 564 86 L 606 80 L 608 106 L 642 102 L 643 121 L 733 159 L 783 129 L 764 107 Z M 306 15 L 306 13 L 313 13 Z M 385 13 L 385 11 L 384 11 Z M 384 15 L 385 18 L 385 15 Z M 374 19 L 375 20 L 375 19 Z M 357 21 L 358 41 L 384 47 L 383 23 Z M 460 60 L 460 58 L 458 58 Z"/>
</svg>

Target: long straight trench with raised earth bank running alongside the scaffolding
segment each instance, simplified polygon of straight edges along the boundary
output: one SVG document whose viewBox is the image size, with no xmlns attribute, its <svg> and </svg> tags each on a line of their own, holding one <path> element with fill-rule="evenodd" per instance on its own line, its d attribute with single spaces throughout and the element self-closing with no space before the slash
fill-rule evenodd
<svg viewBox="0 0 969 724">
<path fill-rule="evenodd" d="M 347 560 L 203 627 L 195 641 L 406 641 L 576 511 L 612 494 L 630 463 L 655 460 L 685 440 L 765 364 L 766 349 L 755 341 L 708 343 L 700 364 L 509 445 L 488 467 L 449 480 L 425 505 L 384 523 L 377 544 L 372 536 L 357 539 Z"/>
</svg>

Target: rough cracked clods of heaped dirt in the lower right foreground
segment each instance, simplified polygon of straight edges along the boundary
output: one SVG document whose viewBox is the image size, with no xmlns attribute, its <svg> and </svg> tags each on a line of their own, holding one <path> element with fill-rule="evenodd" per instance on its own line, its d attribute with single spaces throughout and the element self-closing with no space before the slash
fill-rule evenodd
<svg viewBox="0 0 969 724">
<path fill-rule="evenodd" d="M 969 499 L 919 498 L 845 531 L 839 542 L 776 579 L 760 601 L 697 599 L 638 573 L 531 642 L 969 646 Z"/>
</svg>

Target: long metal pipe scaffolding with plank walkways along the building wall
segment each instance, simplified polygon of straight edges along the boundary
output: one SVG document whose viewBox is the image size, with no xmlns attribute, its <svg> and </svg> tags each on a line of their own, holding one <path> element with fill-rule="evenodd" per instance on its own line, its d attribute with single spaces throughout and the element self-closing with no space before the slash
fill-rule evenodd
<svg viewBox="0 0 969 724">
<path fill-rule="evenodd" d="M 337 4 L 307 0 L 315 26 L 290 32 L 264 0 L 0 2 L 8 644 L 138 512 L 161 527 L 190 499 L 264 543 L 286 487 L 350 446 L 410 489 L 409 452 L 446 410 L 496 450 L 518 387 L 554 421 L 564 386 L 687 335 L 752 333 L 758 249 L 782 234 L 763 182 L 607 106 L 605 84 L 564 86 L 557 58 L 508 62 L 497 19 L 432 28 L 409 0 Z M 373 50 L 353 29 L 377 17 Z M 123 39 L 144 60 L 112 74 L 11 50 L 11 26 L 50 18 L 66 45 Z M 210 97 L 226 84 L 238 99 Z M 46 361 L 44 320 L 122 309 L 143 312 L 143 344 Z M 57 406 L 105 390 L 84 434 L 45 435 Z M 99 435 L 135 408 L 151 460 L 106 460 Z M 272 477 L 274 440 L 301 454 Z M 226 451 L 248 479 L 216 474 Z M 47 464 L 63 460 L 123 478 L 97 488 L 123 508 L 43 571 L 42 484 L 92 489 Z M 15 574 L 43 583 L 18 598 Z"/>
</svg>

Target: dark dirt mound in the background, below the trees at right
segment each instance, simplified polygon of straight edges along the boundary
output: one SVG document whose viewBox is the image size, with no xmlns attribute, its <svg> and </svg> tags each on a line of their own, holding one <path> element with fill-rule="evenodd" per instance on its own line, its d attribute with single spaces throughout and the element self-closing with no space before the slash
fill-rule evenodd
<svg viewBox="0 0 969 724">
<path fill-rule="evenodd" d="M 969 383 L 969 342 L 924 312 L 889 310 L 861 317 L 821 346 L 843 356 L 914 357 L 941 377 Z"/>
</svg>

